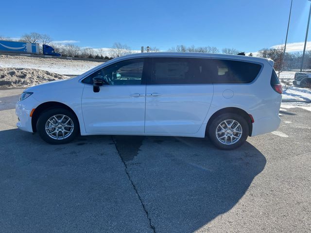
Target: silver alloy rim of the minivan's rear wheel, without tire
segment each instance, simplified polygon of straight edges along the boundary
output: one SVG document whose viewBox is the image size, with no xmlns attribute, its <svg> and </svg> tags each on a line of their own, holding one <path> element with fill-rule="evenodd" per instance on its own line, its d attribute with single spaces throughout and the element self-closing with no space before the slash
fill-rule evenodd
<svg viewBox="0 0 311 233">
<path fill-rule="evenodd" d="M 222 121 L 216 128 L 216 137 L 219 142 L 225 145 L 237 143 L 242 137 L 241 124 L 232 119 Z"/>
</svg>

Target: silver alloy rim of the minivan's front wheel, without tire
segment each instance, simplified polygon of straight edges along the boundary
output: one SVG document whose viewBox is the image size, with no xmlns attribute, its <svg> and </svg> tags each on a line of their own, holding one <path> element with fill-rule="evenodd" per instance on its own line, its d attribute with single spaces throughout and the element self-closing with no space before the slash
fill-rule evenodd
<svg viewBox="0 0 311 233">
<path fill-rule="evenodd" d="M 51 116 L 45 123 L 45 132 L 56 140 L 68 138 L 74 129 L 73 121 L 69 116 L 58 114 Z"/>
</svg>

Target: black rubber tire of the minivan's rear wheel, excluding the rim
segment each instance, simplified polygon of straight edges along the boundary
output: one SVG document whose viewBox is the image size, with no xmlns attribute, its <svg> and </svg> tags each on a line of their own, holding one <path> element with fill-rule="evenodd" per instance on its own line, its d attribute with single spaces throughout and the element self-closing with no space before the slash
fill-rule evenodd
<svg viewBox="0 0 311 233">
<path fill-rule="evenodd" d="M 242 135 L 240 137 L 239 140 L 237 140 L 234 144 L 231 144 L 231 145 L 228 145 L 228 144 L 224 144 L 222 142 L 220 142 L 216 136 L 216 130 L 217 129 L 221 129 L 221 128 L 218 128 L 219 127 L 219 124 L 222 123 L 223 121 L 225 120 L 234 120 L 236 122 L 238 122 L 241 127 L 242 127 Z M 237 125 L 235 123 L 235 125 Z M 221 150 L 234 150 L 236 148 L 239 148 L 242 146 L 242 144 L 246 141 L 247 137 L 248 137 L 248 132 L 249 132 L 249 127 L 248 127 L 248 124 L 247 124 L 247 121 L 244 119 L 244 117 L 238 115 L 238 114 L 235 114 L 235 113 L 225 113 L 225 114 L 221 114 L 219 116 L 216 116 L 211 122 L 210 124 L 208 125 L 208 137 L 209 137 L 209 140 L 218 148 L 218 149 L 221 149 Z M 237 136 L 239 136 L 240 134 L 239 133 L 232 133 L 232 134 L 235 134 Z M 230 134 L 230 135 L 232 135 Z M 223 133 L 223 134 L 218 134 L 220 137 L 222 137 L 223 135 L 228 135 L 228 137 L 230 136 L 229 134 L 226 134 L 226 133 Z M 231 137 L 231 136 L 230 136 Z M 226 137 L 225 137 L 226 138 Z M 231 137 L 232 138 L 232 137 Z M 224 140 L 225 142 L 227 142 L 225 139 L 222 139 Z M 228 141 L 230 139 L 228 138 Z M 236 140 L 236 138 L 234 139 L 231 139 L 231 140 Z"/>
</svg>

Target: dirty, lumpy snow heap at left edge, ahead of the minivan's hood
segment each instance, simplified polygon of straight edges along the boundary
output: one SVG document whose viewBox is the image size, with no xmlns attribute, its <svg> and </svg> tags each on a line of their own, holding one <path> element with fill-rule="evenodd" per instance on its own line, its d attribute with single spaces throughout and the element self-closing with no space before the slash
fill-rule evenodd
<svg viewBox="0 0 311 233">
<path fill-rule="evenodd" d="M 0 68 L 0 86 L 2 87 L 28 87 L 67 78 L 64 75 L 40 69 Z"/>
</svg>

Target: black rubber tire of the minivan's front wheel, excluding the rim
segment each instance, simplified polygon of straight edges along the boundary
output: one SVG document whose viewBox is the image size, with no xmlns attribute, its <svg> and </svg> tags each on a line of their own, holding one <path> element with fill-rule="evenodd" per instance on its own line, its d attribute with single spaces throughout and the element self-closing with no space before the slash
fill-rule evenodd
<svg viewBox="0 0 311 233">
<path fill-rule="evenodd" d="M 70 124 L 70 126 L 73 126 L 73 130 L 71 134 L 67 134 L 67 137 L 65 134 L 62 134 L 64 132 L 61 132 L 61 129 L 58 130 L 57 128 L 57 137 L 58 135 L 63 135 L 63 139 L 54 139 L 51 136 L 48 135 L 48 133 L 46 132 L 46 123 L 47 121 L 52 117 L 52 116 L 56 116 L 56 115 L 65 115 L 67 117 L 69 117 L 72 121 L 72 124 Z M 64 122 L 65 123 L 65 122 Z M 61 126 L 59 126 L 61 127 Z M 41 136 L 41 138 L 46 141 L 47 143 L 50 144 L 65 144 L 65 143 L 69 143 L 71 142 L 76 136 L 77 134 L 80 132 L 79 130 L 79 121 L 77 119 L 77 117 L 75 116 L 75 114 L 73 114 L 71 111 L 64 109 L 64 108 L 53 108 L 53 109 L 48 109 L 46 111 L 44 111 L 38 118 L 37 121 L 37 132 L 39 133 L 39 135 Z M 71 131 L 71 128 L 69 127 L 64 127 L 63 130 L 69 130 Z M 56 128 L 55 128 L 56 131 Z M 58 133 L 59 131 L 59 133 Z M 53 136 L 53 135 L 52 135 Z"/>
</svg>

